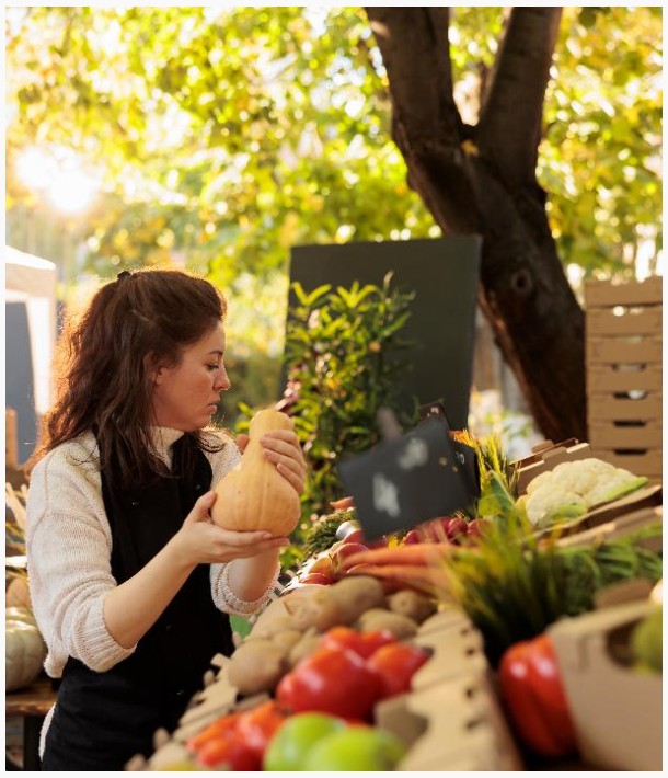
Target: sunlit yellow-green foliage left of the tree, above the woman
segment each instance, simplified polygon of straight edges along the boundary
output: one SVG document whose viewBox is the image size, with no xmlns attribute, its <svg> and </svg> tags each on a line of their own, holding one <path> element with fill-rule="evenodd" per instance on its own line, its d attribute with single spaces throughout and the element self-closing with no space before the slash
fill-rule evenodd
<svg viewBox="0 0 668 778">
<path fill-rule="evenodd" d="M 285 268 L 296 243 L 434 227 L 361 9 L 14 9 L 8 30 L 10 195 L 26 194 L 12 171 L 30 145 L 99 170 L 96 270 L 168 252 L 224 288 Z"/>
</svg>

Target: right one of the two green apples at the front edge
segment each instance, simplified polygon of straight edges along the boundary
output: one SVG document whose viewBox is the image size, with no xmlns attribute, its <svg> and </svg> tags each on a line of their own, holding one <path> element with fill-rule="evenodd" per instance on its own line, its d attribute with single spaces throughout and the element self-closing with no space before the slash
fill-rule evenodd
<svg viewBox="0 0 668 778">
<path fill-rule="evenodd" d="M 393 770 L 406 746 L 391 732 L 348 726 L 318 741 L 307 753 L 302 770 Z"/>
</svg>

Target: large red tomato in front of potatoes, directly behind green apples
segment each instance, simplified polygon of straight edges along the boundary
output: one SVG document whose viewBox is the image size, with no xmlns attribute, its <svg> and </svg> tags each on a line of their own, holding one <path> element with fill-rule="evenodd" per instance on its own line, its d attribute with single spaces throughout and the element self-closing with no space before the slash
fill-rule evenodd
<svg viewBox="0 0 668 778">
<path fill-rule="evenodd" d="M 382 688 L 365 661 L 348 649 L 318 649 L 280 679 L 277 701 L 292 712 L 318 710 L 366 719 Z"/>
</svg>

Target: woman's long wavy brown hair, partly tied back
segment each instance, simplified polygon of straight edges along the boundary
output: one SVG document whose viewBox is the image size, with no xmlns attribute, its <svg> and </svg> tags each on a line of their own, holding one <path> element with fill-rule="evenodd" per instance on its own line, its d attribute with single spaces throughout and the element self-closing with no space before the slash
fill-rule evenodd
<svg viewBox="0 0 668 778">
<path fill-rule="evenodd" d="M 168 474 L 151 445 L 151 373 L 158 363 L 178 365 L 184 347 L 226 313 L 226 299 L 215 286 L 181 270 L 125 272 L 105 284 L 81 316 L 65 323 L 54 363 L 56 401 L 26 470 L 92 430 L 100 467 L 115 485 L 127 489 Z M 204 431 L 186 438 L 189 449 L 220 449 Z"/>
</svg>

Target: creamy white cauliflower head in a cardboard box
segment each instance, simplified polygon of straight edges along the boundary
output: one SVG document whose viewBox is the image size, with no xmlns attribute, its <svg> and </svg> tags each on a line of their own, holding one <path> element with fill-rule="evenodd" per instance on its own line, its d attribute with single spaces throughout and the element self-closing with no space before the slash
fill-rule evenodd
<svg viewBox="0 0 668 778">
<path fill-rule="evenodd" d="M 646 482 L 646 478 L 595 457 L 562 462 L 529 483 L 525 507 L 534 526 L 544 525 L 551 518 L 581 515 L 592 505 L 613 499 L 610 495 L 633 491 Z"/>
</svg>

